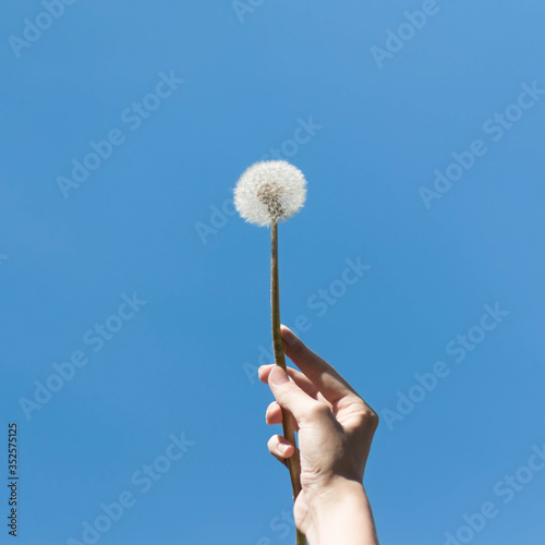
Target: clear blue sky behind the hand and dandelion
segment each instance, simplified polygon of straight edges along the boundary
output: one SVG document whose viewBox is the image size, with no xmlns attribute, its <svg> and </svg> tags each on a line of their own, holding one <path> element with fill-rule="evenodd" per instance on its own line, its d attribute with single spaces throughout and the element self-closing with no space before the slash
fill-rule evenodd
<svg viewBox="0 0 545 545">
<path fill-rule="evenodd" d="M 282 322 L 382 416 L 382 543 L 543 544 L 543 2 L 44 4 L 0 17 L 0 542 L 11 422 L 20 545 L 294 542 L 231 204 L 275 154 L 308 181 Z"/>
</svg>

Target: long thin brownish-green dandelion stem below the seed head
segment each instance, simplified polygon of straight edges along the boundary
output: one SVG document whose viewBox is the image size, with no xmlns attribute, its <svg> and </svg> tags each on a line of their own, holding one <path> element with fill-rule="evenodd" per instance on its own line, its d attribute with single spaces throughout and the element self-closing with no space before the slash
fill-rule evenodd
<svg viewBox="0 0 545 545">
<path fill-rule="evenodd" d="M 280 332 L 280 282 L 278 275 L 278 223 L 272 221 L 270 225 L 270 310 L 272 318 L 272 346 L 275 349 L 275 362 L 287 371 L 286 358 L 283 355 L 282 337 Z M 283 436 L 294 447 L 294 453 L 288 458 L 288 469 L 290 470 L 291 487 L 293 492 L 293 501 L 295 501 L 301 492 L 301 461 L 299 449 L 295 443 L 295 426 L 292 414 L 282 408 L 282 428 Z M 306 538 L 296 530 L 296 545 L 306 545 Z"/>
</svg>

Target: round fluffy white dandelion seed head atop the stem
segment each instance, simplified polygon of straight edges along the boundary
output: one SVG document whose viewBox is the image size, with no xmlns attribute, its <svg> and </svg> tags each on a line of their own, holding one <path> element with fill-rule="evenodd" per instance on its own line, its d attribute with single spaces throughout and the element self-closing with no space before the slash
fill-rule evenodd
<svg viewBox="0 0 545 545">
<path fill-rule="evenodd" d="M 234 187 L 234 206 L 250 223 L 269 226 L 296 214 L 306 197 L 303 172 L 287 161 L 252 165 Z"/>
</svg>

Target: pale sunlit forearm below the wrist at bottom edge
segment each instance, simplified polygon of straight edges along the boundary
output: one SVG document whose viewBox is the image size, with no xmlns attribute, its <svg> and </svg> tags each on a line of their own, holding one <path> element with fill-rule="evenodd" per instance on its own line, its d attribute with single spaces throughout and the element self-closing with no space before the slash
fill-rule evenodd
<svg viewBox="0 0 545 545">
<path fill-rule="evenodd" d="M 362 484 L 347 481 L 314 502 L 306 530 L 311 545 L 378 545 L 373 512 Z"/>
</svg>

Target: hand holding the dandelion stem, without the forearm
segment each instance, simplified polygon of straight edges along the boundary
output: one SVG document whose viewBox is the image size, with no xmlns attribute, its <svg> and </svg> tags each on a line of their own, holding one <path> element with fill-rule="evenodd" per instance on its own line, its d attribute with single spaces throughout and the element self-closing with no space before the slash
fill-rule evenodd
<svg viewBox="0 0 545 545">
<path fill-rule="evenodd" d="M 288 375 L 277 365 L 262 365 L 259 379 L 269 385 L 276 401 L 266 412 L 267 424 L 281 424 L 281 408 L 288 409 L 299 435 L 301 486 L 294 506 L 296 526 L 305 532 L 317 504 L 342 491 L 362 486 L 365 463 L 378 416 L 354 389 L 282 326 L 284 352 L 299 371 Z M 295 446 L 280 435 L 268 443 L 269 451 L 284 461 Z"/>
</svg>

